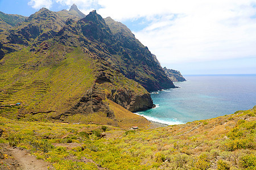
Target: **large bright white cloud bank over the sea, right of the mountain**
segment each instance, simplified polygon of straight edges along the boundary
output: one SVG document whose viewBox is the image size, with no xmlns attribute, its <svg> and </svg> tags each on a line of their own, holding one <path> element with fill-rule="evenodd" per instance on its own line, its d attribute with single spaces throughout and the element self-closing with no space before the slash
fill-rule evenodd
<svg viewBox="0 0 256 170">
<path fill-rule="evenodd" d="M 160 62 L 256 56 L 256 19 L 252 18 L 256 16 L 252 5 L 255 1 L 192 2 L 195 4 L 190 4 L 189 9 L 176 8 L 177 18 L 164 21 L 169 24 L 163 25 L 163 20 L 157 20 L 135 32 Z M 155 25 L 162 27 L 156 28 Z"/>
</svg>

